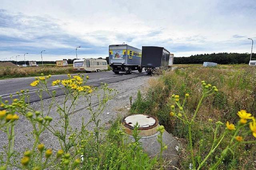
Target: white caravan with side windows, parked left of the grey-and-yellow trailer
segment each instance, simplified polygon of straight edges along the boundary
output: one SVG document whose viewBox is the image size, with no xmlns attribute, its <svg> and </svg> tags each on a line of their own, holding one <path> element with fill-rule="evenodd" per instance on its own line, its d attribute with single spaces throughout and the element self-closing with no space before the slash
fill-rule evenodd
<svg viewBox="0 0 256 170">
<path fill-rule="evenodd" d="M 100 72 L 100 70 L 108 70 L 108 64 L 104 59 L 78 59 L 74 60 L 73 70 Z"/>
</svg>

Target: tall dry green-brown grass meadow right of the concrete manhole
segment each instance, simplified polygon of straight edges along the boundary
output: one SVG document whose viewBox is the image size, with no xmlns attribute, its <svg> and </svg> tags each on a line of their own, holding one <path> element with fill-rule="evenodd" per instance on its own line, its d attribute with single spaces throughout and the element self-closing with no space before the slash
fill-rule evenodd
<svg viewBox="0 0 256 170">
<path fill-rule="evenodd" d="M 192 127 L 194 129 L 192 138 L 195 141 L 193 143 L 194 153 L 197 159 L 204 158 L 211 148 L 210 144 L 213 138 L 208 119 L 212 119 L 213 122 L 226 123 L 226 121 L 229 121 L 235 123 L 239 121 L 236 113 L 240 109 L 246 109 L 246 111 L 256 116 L 256 67 L 247 64 L 234 64 L 204 68 L 197 64 L 179 64 L 178 69 L 150 79 L 146 94 L 142 96 L 138 92 L 131 112 L 157 116 L 160 124 L 164 125 L 169 133 L 180 139 L 184 146 L 181 155 L 184 159 L 180 159 L 180 167 L 178 167 L 180 169 L 188 169 L 191 163 L 188 131 L 182 121 L 170 118 L 170 96 L 172 94 L 184 96 L 189 93 L 190 98 L 188 98 L 184 110 L 188 115 L 191 115 L 196 109 L 201 96 L 201 80 L 217 86 L 219 92 L 204 100 Z M 224 131 L 224 127 L 220 131 Z M 252 135 L 249 136 L 252 137 Z M 203 146 L 200 145 L 200 140 L 203 140 Z M 216 150 L 206 162 L 206 169 L 219 158 L 220 152 L 225 146 L 224 141 L 220 145 L 220 149 Z M 229 153 L 222 161 L 220 169 L 255 168 L 255 144 L 239 145 L 233 152 L 235 153 L 234 159 L 233 155 Z"/>
</svg>

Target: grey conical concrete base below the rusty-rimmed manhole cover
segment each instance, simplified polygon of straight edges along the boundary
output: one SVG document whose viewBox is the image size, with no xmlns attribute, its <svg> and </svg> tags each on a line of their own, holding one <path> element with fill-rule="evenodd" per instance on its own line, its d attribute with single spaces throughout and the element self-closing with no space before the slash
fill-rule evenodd
<svg viewBox="0 0 256 170">
<path fill-rule="evenodd" d="M 143 149 L 148 153 L 150 157 L 160 155 L 160 143 L 157 141 L 157 136 L 160 132 L 155 133 L 151 136 L 144 136 L 141 137 L 140 143 Z M 178 150 L 180 149 L 180 144 L 170 133 L 164 131 L 163 133 L 163 142 L 167 145 L 167 149 L 163 151 L 162 156 L 163 160 L 165 161 L 165 165 L 167 164 L 168 167 L 165 169 L 174 169 L 174 166 L 177 166 L 178 163 Z M 130 135 L 129 139 L 134 141 L 133 137 Z"/>
</svg>

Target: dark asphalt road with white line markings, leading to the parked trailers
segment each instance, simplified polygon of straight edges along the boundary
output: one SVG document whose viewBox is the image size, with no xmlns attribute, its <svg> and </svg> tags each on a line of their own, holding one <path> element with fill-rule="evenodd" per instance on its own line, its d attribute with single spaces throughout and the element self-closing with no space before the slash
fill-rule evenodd
<svg viewBox="0 0 256 170">
<path fill-rule="evenodd" d="M 76 75 L 76 74 L 72 74 Z M 87 81 L 87 85 L 91 86 L 100 86 L 100 83 L 114 83 L 114 82 L 120 82 L 123 80 L 128 80 L 130 78 L 135 78 L 139 76 L 146 75 L 146 72 L 138 72 L 133 71 L 132 74 L 114 74 L 112 71 L 106 71 L 106 72 L 95 72 L 95 73 L 85 73 L 84 75 L 89 76 L 89 80 Z M 63 95 L 63 91 L 58 86 L 52 86 L 51 82 L 54 80 L 63 80 L 66 79 L 67 75 L 52 75 L 50 80 L 48 81 L 48 87 L 50 87 L 50 91 L 55 90 L 56 96 Z M 18 95 L 16 92 L 19 92 L 20 90 L 30 90 L 30 103 L 39 101 L 39 97 L 36 94 L 36 90 L 38 90 L 37 87 L 30 86 L 30 83 L 35 80 L 35 77 L 26 77 L 26 78 L 11 78 L 7 80 L 0 80 L 0 97 L 2 100 L 8 100 L 10 101 L 10 94 L 12 94 L 13 98 L 17 98 Z M 48 94 L 44 93 L 43 98 L 50 98 Z"/>
</svg>

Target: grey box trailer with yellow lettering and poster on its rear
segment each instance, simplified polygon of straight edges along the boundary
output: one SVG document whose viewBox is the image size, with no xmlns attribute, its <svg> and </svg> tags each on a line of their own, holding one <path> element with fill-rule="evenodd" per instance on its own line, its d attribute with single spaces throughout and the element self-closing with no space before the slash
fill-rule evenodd
<svg viewBox="0 0 256 170">
<path fill-rule="evenodd" d="M 113 72 L 126 72 L 131 74 L 132 70 L 142 72 L 140 66 L 142 51 L 127 44 L 109 46 L 109 65 Z"/>
</svg>

